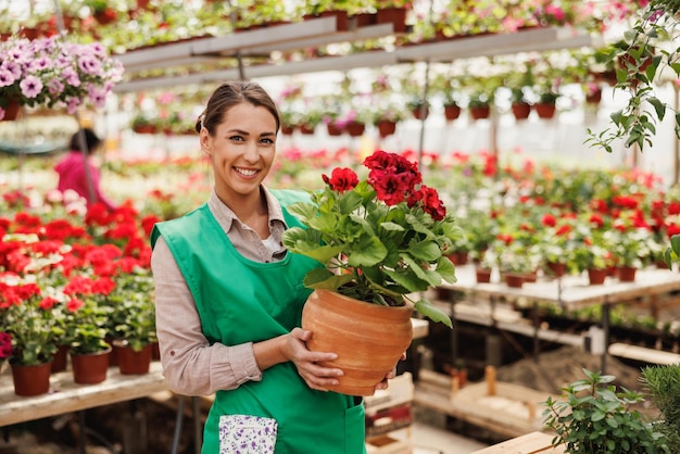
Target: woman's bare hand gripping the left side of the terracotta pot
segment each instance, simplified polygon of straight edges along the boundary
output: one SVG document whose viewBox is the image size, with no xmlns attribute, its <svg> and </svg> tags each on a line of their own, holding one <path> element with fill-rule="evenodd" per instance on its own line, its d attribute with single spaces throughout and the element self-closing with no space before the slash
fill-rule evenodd
<svg viewBox="0 0 680 454">
<path fill-rule="evenodd" d="M 293 328 L 286 336 L 286 357 L 293 362 L 298 374 L 307 386 L 314 390 L 328 391 L 327 387 L 338 384 L 338 378 L 343 375 L 342 369 L 324 367 L 318 363 L 338 358 L 336 353 L 313 352 L 307 349 L 306 342 L 312 339 L 312 331 Z"/>
</svg>

